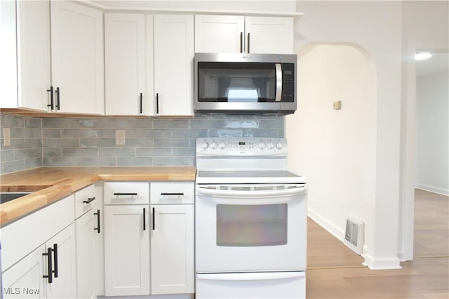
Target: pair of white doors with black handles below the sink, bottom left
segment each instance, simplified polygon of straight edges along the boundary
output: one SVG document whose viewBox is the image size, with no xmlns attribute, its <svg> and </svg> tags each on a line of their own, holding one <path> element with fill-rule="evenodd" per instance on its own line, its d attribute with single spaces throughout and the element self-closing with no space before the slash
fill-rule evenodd
<svg viewBox="0 0 449 299">
<path fill-rule="evenodd" d="M 2 273 L 4 298 L 76 298 L 74 224 Z"/>
</svg>

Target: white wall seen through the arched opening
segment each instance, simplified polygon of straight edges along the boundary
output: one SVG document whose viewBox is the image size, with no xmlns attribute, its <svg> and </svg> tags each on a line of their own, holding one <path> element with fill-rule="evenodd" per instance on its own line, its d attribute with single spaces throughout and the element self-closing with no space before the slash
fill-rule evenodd
<svg viewBox="0 0 449 299">
<path fill-rule="evenodd" d="M 307 176 L 309 216 L 342 240 L 346 216 L 366 220 L 375 201 L 375 70 L 354 46 L 318 45 L 298 58 L 297 81 L 288 164 Z"/>
</svg>

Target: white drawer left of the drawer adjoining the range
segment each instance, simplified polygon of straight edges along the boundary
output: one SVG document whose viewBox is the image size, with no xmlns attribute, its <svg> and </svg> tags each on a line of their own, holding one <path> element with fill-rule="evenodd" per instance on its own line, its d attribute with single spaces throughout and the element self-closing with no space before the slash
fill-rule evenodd
<svg viewBox="0 0 449 299">
<path fill-rule="evenodd" d="M 149 182 L 105 182 L 105 204 L 149 204 Z"/>
</svg>

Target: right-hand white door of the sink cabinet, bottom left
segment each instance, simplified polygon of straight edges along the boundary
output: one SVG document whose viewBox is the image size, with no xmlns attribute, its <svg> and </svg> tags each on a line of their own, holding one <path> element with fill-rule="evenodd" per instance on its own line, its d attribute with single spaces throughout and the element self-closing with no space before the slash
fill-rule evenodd
<svg viewBox="0 0 449 299">
<path fill-rule="evenodd" d="M 47 284 L 47 298 L 76 298 L 76 246 L 74 223 L 62 230 L 55 237 L 46 242 L 46 247 L 58 246 L 58 253 L 54 257 L 53 282 Z"/>
</svg>

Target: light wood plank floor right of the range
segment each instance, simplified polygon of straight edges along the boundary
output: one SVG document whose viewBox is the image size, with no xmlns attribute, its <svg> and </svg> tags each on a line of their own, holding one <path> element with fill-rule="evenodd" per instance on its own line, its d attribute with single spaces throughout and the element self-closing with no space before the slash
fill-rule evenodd
<svg viewBox="0 0 449 299">
<path fill-rule="evenodd" d="M 438 195 L 438 194 L 436 194 Z M 415 259 L 370 270 L 363 258 L 309 219 L 307 298 L 449 298 L 448 197 L 415 193 Z"/>
</svg>

